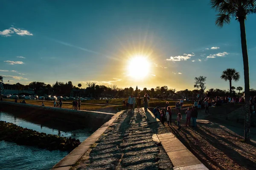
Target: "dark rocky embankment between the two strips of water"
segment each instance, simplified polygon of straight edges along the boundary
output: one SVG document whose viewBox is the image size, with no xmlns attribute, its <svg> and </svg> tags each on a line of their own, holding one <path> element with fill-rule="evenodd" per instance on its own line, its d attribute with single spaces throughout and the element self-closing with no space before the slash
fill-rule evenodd
<svg viewBox="0 0 256 170">
<path fill-rule="evenodd" d="M 81 143 L 79 139 L 76 140 L 40 133 L 4 121 L 0 121 L 0 141 L 1 140 L 22 145 L 37 146 L 47 150 L 63 150 L 69 152 Z"/>
</svg>

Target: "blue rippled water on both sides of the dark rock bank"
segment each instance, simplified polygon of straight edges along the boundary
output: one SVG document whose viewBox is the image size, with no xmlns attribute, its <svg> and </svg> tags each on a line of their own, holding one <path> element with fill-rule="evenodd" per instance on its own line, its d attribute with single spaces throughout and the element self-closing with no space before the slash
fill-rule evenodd
<svg viewBox="0 0 256 170">
<path fill-rule="evenodd" d="M 19 119 L 12 114 L 4 112 L 0 112 L 0 120 L 37 130 L 38 132 L 65 137 L 71 136 L 79 139 L 80 142 L 90 136 L 86 129 L 63 132 Z M 0 141 L 0 170 L 49 170 L 67 154 L 68 152 L 59 150 L 49 151 L 37 147 L 17 145 L 13 142 Z"/>
</svg>

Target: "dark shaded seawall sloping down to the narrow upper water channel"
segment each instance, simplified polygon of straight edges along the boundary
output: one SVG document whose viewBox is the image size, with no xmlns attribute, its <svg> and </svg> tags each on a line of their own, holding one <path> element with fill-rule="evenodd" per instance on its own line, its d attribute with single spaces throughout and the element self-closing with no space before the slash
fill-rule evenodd
<svg viewBox="0 0 256 170">
<path fill-rule="evenodd" d="M 62 130 L 65 127 L 67 129 L 73 127 L 73 129 L 89 128 L 97 130 L 115 115 L 113 113 L 75 111 L 7 101 L 0 101 L 0 111 L 12 113 L 17 117 L 48 127 L 58 127 L 58 129 L 62 127 Z"/>
</svg>

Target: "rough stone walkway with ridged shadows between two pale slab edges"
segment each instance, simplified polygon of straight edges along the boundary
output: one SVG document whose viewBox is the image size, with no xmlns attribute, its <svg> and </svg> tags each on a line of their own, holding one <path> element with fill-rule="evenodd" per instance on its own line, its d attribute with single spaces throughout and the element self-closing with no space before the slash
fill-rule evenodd
<svg viewBox="0 0 256 170">
<path fill-rule="evenodd" d="M 153 132 L 145 113 L 123 113 L 97 141 L 87 167 L 79 170 L 171 170 L 161 144 L 152 140 Z"/>
</svg>

